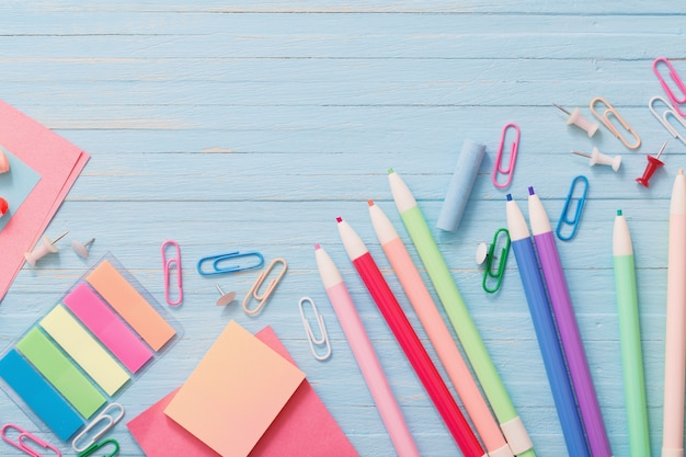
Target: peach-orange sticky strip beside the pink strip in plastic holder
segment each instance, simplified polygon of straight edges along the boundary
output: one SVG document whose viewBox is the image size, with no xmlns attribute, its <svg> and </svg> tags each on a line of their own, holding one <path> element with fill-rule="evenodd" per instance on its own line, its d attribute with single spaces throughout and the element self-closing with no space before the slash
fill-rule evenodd
<svg viewBox="0 0 686 457">
<path fill-rule="evenodd" d="M 107 260 L 98 265 L 85 281 L 155 351 L 162 349 L 176 333 L 142 295 Z"/>
</svg>

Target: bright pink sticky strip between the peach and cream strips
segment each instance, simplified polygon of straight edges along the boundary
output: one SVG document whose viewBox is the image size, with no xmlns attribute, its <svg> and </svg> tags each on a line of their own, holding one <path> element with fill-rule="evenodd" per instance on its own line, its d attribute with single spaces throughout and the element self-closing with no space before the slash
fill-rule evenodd
<svg viewBox="0 0 686 457">
<path fill-rule="evenodd" d="M 76 286 L 62 301 L 132 373 L 138 372 L 152 357 L 152 351 L 88 284 Z"/>
</svg>

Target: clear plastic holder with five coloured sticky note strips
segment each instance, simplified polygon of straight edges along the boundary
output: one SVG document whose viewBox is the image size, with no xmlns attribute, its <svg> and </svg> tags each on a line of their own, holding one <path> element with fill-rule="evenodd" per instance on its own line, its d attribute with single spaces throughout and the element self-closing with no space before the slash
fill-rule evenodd
<svg viewBox="0 0 686 457">
<path fill-rule="evenodd" d="M 182 336 L 106 253 L 0 353 L 0 388 L 41 431 L 66 442 Z"/>
</svg>

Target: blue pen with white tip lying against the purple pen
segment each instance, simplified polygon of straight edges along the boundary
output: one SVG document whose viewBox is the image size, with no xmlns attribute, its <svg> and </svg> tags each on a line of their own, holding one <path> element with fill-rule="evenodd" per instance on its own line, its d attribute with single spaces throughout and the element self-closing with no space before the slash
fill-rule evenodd
<svg viewBox="0 0 686 457">
<path fill-rule="evenodd" d="M 548 382 L 552 391 L 558 418 L 562 426 L 564 442 L 570 456 L 590 457 L 574 392 L 567 370 L 553 316 L 546 295 L 546 288 L 538 267 L 529 229 L 516 202 L 507 194 L 507 230 L 512 250 L 517 261 L 517 270 L 529 305 L 536 338 L 546 366 Z"/>
</svg>

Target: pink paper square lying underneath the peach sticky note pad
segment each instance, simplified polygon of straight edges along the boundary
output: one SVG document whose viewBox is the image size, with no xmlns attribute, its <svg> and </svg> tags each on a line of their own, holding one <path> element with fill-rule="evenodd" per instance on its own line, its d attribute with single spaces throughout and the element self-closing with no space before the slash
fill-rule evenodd
<svg viewBox="0 0 686 457">
<path fill-rule="evenodd" d="M 255 336 L 294 363 L 271 327 Z M 126 426 L 148 457 L 217 457 L 217 453 L 164 414 L 178 390 L 134 418 Z M 250 456 L 357 457 L 358 454 L 306 379 Z"/>
</svg>

